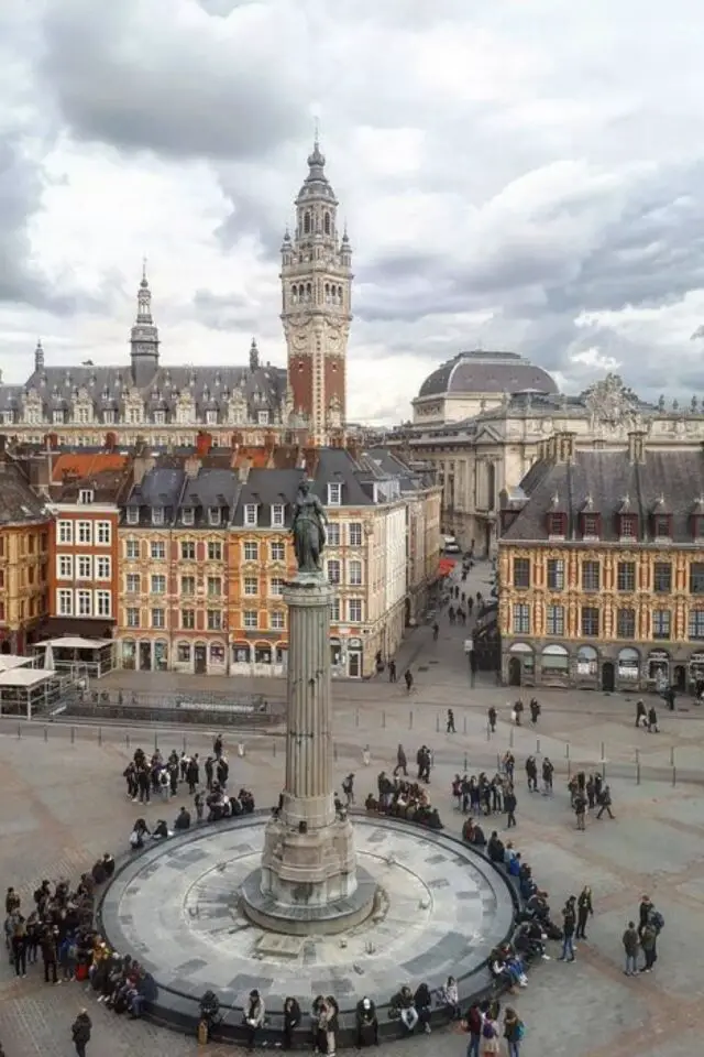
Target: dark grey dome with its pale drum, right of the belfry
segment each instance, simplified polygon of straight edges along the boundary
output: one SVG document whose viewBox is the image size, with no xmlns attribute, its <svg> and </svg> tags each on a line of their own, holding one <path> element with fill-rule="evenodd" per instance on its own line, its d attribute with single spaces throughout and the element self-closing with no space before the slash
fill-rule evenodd
<svg viewBox="0 0 704 1057">
<path fill-rule="evenodd" d="M 413 401 L 414 423 L 419 426 L 461 422 L 491 411 L 515 393 L 558 392 L 554 380 L 517 352 L 474 349 L 459 352 L 437 368 Z"/>
</svg>

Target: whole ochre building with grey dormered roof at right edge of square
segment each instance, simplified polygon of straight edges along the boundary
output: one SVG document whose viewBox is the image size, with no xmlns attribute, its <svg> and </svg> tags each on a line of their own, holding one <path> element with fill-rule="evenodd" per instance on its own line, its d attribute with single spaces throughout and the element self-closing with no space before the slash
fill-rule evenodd
<svg viewBox="0 0 704 1057">
<path fill-rule="evenodd" d="M 502 497 L 498 626 L 512 685 L 689 690 L 704 679 L 704 454 L 632 428 L 543 442 Z"/>
</svg>

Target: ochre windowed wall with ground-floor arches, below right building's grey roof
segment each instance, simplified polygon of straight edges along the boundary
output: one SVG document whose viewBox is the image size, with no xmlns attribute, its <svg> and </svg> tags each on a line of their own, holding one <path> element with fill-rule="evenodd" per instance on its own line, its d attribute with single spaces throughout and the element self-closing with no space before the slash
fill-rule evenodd
<svg viewBox="0 0 704 1057">
<path fill-rule="evenodd" d="M 704 548 L 499 544 L 513 685 L 686 689 L 704 678 Z"/>
</svg>

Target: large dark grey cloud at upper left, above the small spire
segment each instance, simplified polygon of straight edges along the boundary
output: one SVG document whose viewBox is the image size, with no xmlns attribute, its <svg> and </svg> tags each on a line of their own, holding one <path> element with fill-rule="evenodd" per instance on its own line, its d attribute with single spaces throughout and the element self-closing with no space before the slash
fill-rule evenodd
<svg viewBox="0 0 704 1057">
<path fill-rule="evenodd" d="M 172 157 L 263 159 L 298 133 L 305 119 L 265 25 L 262 39 L 251 20 L 226 36 L 209 24 L 219 18 L 170 13 L 166 2 L 50 3 L 43 74 L 74 135 Z"/>
</svg>

